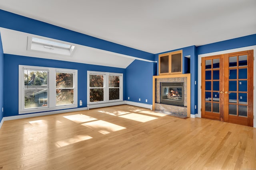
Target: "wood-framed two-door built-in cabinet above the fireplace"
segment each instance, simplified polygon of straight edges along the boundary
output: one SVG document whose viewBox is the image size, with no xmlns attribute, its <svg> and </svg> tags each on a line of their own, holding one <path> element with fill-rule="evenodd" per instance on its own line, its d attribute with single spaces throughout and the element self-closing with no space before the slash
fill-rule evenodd
<svg viewBox="0 0 256 170">
<path fill-rule="evenodd" d="M 182 50 L 159 55 L 159 75 L 182 74 Z"/>
</svg>

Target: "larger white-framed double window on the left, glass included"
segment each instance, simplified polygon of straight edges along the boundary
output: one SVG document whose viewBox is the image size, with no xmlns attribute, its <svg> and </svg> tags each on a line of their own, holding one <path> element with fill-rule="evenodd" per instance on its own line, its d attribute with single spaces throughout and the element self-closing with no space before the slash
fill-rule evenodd
<svg viewBox="0 0 256 170">
<path fill-rule="evenodd" d="M 19 66 L 19 114 L 77 107 L 77 70 Z"/>
</svg>

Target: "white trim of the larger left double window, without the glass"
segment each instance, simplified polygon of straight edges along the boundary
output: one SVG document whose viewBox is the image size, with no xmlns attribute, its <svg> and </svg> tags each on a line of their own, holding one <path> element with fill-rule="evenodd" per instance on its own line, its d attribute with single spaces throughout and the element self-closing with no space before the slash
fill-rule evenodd
<svg viewBox="0 0 256 170">
<path fill-rule="evenodd" d="M 34 70 L 47 70 L 48 73 L 48 104 L 47 107 L 34 107 L 34 108 L 24 108 L 24 73 L 23 68 L 29 68 Z M 59 105 L 56 106 L 56 72 L 66 72 L 73 73 L 73 86 L 74 86 L 74 103 Z M 77 94 L 78 94 L 78 85 L 77 85 L 77 70 L 73 69 L 64 69 L 64 68 L 52 68 L 52 67 L 40 67 L 40 66 L 26 66 L 19 65 L 19 114 L 25 113 L 37 113 L 42 111 L 53 111 L 60 109 L 71 109 L 78 107 L 77 105 Z"/>
</svg>

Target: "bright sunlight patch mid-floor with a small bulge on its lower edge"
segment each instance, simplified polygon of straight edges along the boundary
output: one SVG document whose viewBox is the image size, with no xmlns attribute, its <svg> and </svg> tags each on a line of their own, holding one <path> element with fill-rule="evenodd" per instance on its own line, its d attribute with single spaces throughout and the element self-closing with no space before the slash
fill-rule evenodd
<svg viewBox="0 0 256 170">
<path fill-rule="evenodd" d="M 92 121 L 88 123 L 81 124 L 83 126 L 89 127 L 89 128 L 95 128 L 98 129 L 98 132 L 102 134 L 107 134 L 109 131 L 115 132 L 120 131 L 122 129 L 126 129 L 125 127 L 109 123 L 107 121 L 98 120 L 98 121 Z"/>
</svg>

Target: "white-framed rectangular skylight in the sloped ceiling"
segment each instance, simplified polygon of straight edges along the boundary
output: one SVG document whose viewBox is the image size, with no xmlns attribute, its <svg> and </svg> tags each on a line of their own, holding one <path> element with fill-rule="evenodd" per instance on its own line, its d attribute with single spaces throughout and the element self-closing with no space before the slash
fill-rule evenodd
<svg viewBox="0 0 256 170">
<path fill-rule="evenodd" d="M 71 56 L 74 48 L 74 45 L 62 43 L 58 40 L 50 41 L 48 39 L 28 37 L 28 50 Z"/>
</svg>

